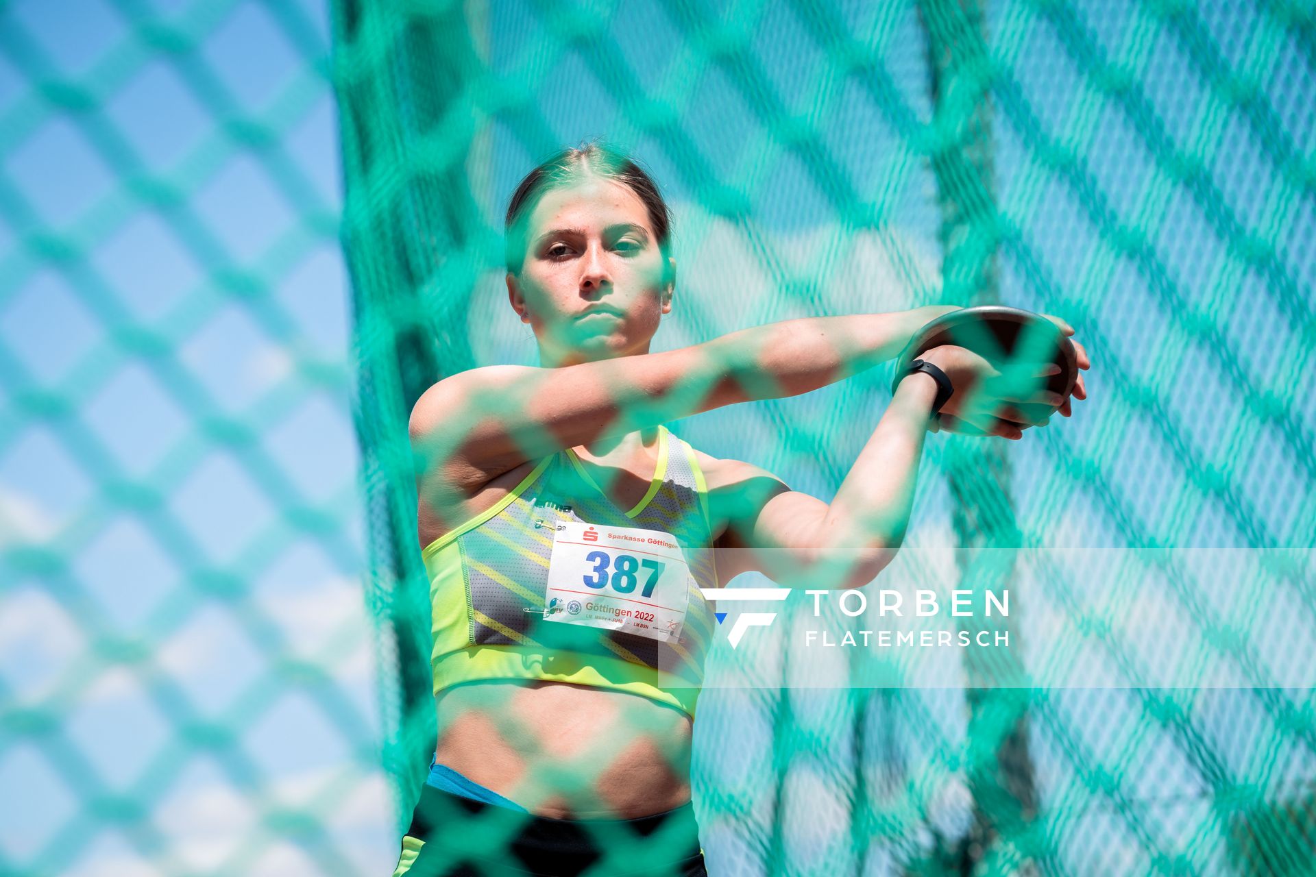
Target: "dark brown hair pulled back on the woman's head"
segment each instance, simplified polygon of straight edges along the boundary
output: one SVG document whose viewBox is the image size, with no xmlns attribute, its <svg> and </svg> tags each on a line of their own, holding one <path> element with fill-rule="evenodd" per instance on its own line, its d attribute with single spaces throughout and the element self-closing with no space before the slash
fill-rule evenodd
<svg viewBox="0 0 1316 877">
<path fill-rule="evenodd" d="M 521 184 L 516 187 L 512 201 L 507 206 L 507 249 L 504 251 L 507 270 L 512 273 L 521 272 L 525 259 L 525 225 L 540 199 L 546 192 L 561 185 L 570 185 L 586 175 L 629 185 L 630 191 L 640 197 L 649 212 L 649 224 L 654 229 L 654 235 L 658 238 L 658 251 L 663 260 L 663 283 L 667 283 L 670 272 L 667 256 L 670 255 L 671 239 L 671 213 L 667 209 L 667 202 L 663 201 L 658 184 L 634 159 L 613 150 L 601 141 L 582 143 L 557 153 L 526 174 Z"/>
</svg>

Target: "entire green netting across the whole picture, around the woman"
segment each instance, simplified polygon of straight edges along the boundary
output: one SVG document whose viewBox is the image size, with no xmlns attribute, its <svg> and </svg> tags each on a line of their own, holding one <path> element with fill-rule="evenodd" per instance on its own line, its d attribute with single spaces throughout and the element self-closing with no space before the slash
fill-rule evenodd
<svg viewBox="0 0 1316 877">
<path fill-rule="evenodd" d="M 441 377 L 537 364 L 501 212 L 604 135 L 674 209 L 657 350 L 1000 301 L 1065 317 L 1094 360 L 1071 421 L 929 438 L 882 573 L 1008 585 L 1011 648 L 800 648 L 865 626 L 832 602 L 736 650 L 720 628 L 691 765 L 709 870 L 1308 872 L 1309 3 L 104 0 L 63 30 L 34 8 L 0 4 L 0 870 L 392 866 L 438 730 L 408 414 Z M 330 89 L 341 209 L 312 170 Z M 145 134 L 133 101 L 163 117 Z M 340 230 L 351 366 L 317 316 Z M 332 444 L 347 389 L 365 548 L 358 460 L 284 430 Z M 874 368 L 674 430 L 829 500 L 890 400 Z M 380 744 L 396 819 L 371 857 Z M 583 792 L 616 753 L 513 797 Z M 509 843 L 491 813 L 445 843 Z"/>
</svg>

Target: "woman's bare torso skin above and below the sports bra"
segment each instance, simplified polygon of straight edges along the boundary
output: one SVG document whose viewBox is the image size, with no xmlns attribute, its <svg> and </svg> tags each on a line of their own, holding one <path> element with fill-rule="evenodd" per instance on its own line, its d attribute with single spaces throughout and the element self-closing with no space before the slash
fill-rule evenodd
<svg viewBox="0 0 1316 877">
<path fill-rule="evenodd" d="M 621 508 L 649 486 L 657 459 L 641 448 L 590 458 L 616 467 Z M 453 515 L 494 506 L 530 472 L 522 463 L 475 492 Z M 629 502 L 628 502 L 629 501 Z M 421 504 L 421 544 L 445 533 Z M 690 801 L 691 718 L 651 698 L 545 680 L 490 680 L 440 692 L 436 757 L 530 813 L 553 819 L 636 819 Z"/>
</svg>

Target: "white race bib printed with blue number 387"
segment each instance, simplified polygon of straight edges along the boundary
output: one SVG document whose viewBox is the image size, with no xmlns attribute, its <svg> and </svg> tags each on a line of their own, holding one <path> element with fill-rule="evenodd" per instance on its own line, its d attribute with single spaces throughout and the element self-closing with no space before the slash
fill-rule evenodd
<svg viewBox="0 0 1316 877">
<path fill-rule="evenodd" d="M 662 530 L 562 521 L 553 539 L 544 618 L 661 642 L 680 638 L 690 567 Z"/>
</svg>

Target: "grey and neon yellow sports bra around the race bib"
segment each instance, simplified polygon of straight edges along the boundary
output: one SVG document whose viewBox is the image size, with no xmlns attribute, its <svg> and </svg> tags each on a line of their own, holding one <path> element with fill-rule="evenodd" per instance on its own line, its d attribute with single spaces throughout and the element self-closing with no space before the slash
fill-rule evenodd
<svg viewBox="0 0 1316 877">
<path fill-rule="evenodd" d="M 551 680 L 642 694 L 695 715 L 716 627 L 712 606 L 699 592 L 717 586 L 707 485 L 687 442 L 663 426 L 658 440 L 649 492 L 629 511 L 613 505 L 566 450 L 540 460 L 491 509 L 425 548 L 436 694 L 479 680 Z M 690 565 L 679 639 L 545 621 L 559 521 L 670 534 Z"/>
</svg>

